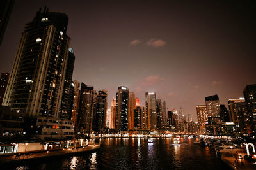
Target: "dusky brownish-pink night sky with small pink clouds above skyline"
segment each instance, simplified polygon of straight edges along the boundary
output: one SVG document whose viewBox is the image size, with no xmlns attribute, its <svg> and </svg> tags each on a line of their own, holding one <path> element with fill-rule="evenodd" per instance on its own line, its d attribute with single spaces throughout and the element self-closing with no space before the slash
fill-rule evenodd
<svg viewBox="0 0 256 170">
<path fill-rule="evenodd" d="M 218 94 L 243 97 L 254 84 L 256 4 L 253 1 L 21 1 L 13 7 L 0 72 L 10 72 L 24 25 L 40 7 L 68 15 L 76 61 L 73 78 L 108 90 L 108 107 L 125 85 L 145 106 L 156 92 L 168 108 L 196 118 L 196 105 Z"/>
</svg>

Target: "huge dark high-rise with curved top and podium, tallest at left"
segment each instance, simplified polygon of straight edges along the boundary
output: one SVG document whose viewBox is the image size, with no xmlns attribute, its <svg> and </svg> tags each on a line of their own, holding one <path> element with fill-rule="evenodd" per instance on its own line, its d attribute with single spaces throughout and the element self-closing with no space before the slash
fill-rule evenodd
<svg viewBox="0 0 256 170">
<path fill-rule="evenodd" d="M 22 32 L 3 105 L 26 113 L 26 134 L 39 138 L 74 136 L 72 120 L 61 114 L 66 72 L 72 71 L 68 68 L 67 25 L 65 13 L 45 8 Z"/>
</svg>

